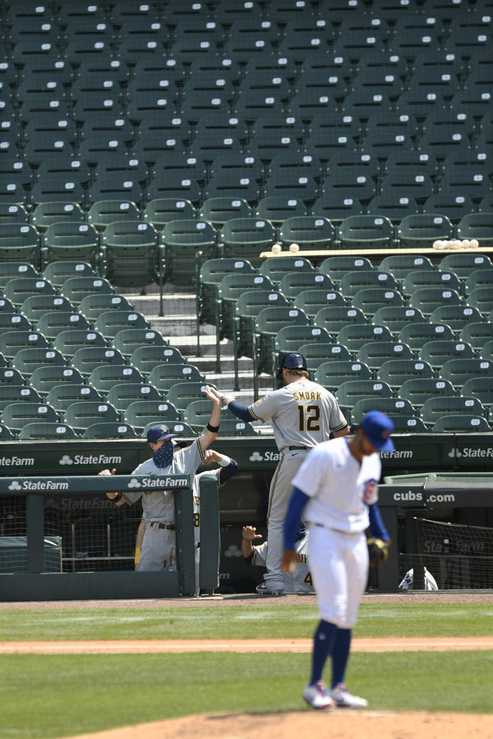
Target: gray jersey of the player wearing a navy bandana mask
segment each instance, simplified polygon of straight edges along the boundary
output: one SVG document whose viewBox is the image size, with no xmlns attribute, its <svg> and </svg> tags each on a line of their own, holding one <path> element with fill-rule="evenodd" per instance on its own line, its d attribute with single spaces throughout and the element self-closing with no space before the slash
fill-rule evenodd
<svg viewBox="0 0 493 739">
<path fill-rule="evenodd" d="M 195 470 L 204 459 L 205 454 L 200 446 L 199 437 L 197 437 L 191 446 L 174 453 L 173 461 L 168 467 L 157 467 L 151 458 L 136 467 L 132 474 L 189 474 L 190 480 L 193 481 Z M 172 490 L 143 492 L 137 488 L 135 491 L 125 491 L 122 495 L 126 503 L 131 505 L 142 496 L 143 520 L 164 523 L 174 521 L 174 492 Z"/>
</svg>

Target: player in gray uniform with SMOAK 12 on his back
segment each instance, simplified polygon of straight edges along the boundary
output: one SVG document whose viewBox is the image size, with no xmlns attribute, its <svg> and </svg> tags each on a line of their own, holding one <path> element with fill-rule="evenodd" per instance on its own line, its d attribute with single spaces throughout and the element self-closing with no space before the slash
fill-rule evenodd
<svg viewBox="0 0 493 739">
<path fill-rule="evenodd" d="M 305 461 L 309 449 L 322 441 L 349 433 L 347 420 L 336 398 L 322 385 L 308 378 L 304 356 L 296 352 L 282 356 L 278 378 L 285 386 L 268 393 L 251 406 L 243 406 L 231 396 L 218 393 L 222 403 L 237 418 L 261 420 L 262 423 L 271 420 L 276 444 L 281 452 L 269 490 L 268 571 L 265 582 L 256 588 L 257 593 L 268 595 L 284 593 L 282 529 L 293 477 Z"/>
</svg>

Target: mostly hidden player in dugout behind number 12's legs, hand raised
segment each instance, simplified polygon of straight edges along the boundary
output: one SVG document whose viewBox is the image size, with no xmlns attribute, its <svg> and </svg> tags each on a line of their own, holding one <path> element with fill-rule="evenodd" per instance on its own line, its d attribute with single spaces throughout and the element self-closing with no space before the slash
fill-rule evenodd
<svg viewBox="0 0 493 739">
<path fill-rule="evenodd" d="M 256 565 L 257 567 L 265 567 L 267 559 L 267 542 L 254 545 L 256 539 L 262 539 L 261 534 L 256 533 L 255 526 L 243 526 L 242 539 L 242 555 L 247 564 Z M 302 524 L 296 534 L 295 548 L 298 558 L 298 566 L 294 572 L 284 572 L 284 592 L 285 593 L 315 593 L 313 590 L 313 582 L 308 567 L 307 559 L 307 543 L 308 531 Z"/>
</svg>

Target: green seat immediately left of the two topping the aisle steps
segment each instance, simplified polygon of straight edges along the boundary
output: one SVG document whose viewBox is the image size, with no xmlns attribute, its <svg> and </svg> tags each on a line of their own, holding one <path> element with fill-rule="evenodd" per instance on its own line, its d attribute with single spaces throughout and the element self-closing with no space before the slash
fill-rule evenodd
<svg viewBox="0 0 493 739">
<path fill-rule="evenodd" d="M 96 267 L 99 261 L 98 232 L 87 223 L 52 223 L 41 236 L 41 258 L 43 266 L 73 259 Z"/>
</svg>

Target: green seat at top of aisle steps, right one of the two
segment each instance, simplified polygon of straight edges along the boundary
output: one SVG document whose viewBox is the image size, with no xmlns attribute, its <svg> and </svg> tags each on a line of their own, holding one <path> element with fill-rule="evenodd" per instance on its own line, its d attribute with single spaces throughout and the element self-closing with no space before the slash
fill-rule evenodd
<svg viewBox="0 0 493 739">
<path fill-rule="evenodd" d="M 166 279 L 179 285 L 193 280 L 197 251 L 203 252 L 204 259 L 216 256 L 216 239 L 216 231 L 208 221 L 180 219 L 166 223 L 160 233 Z"/>
</svg>

